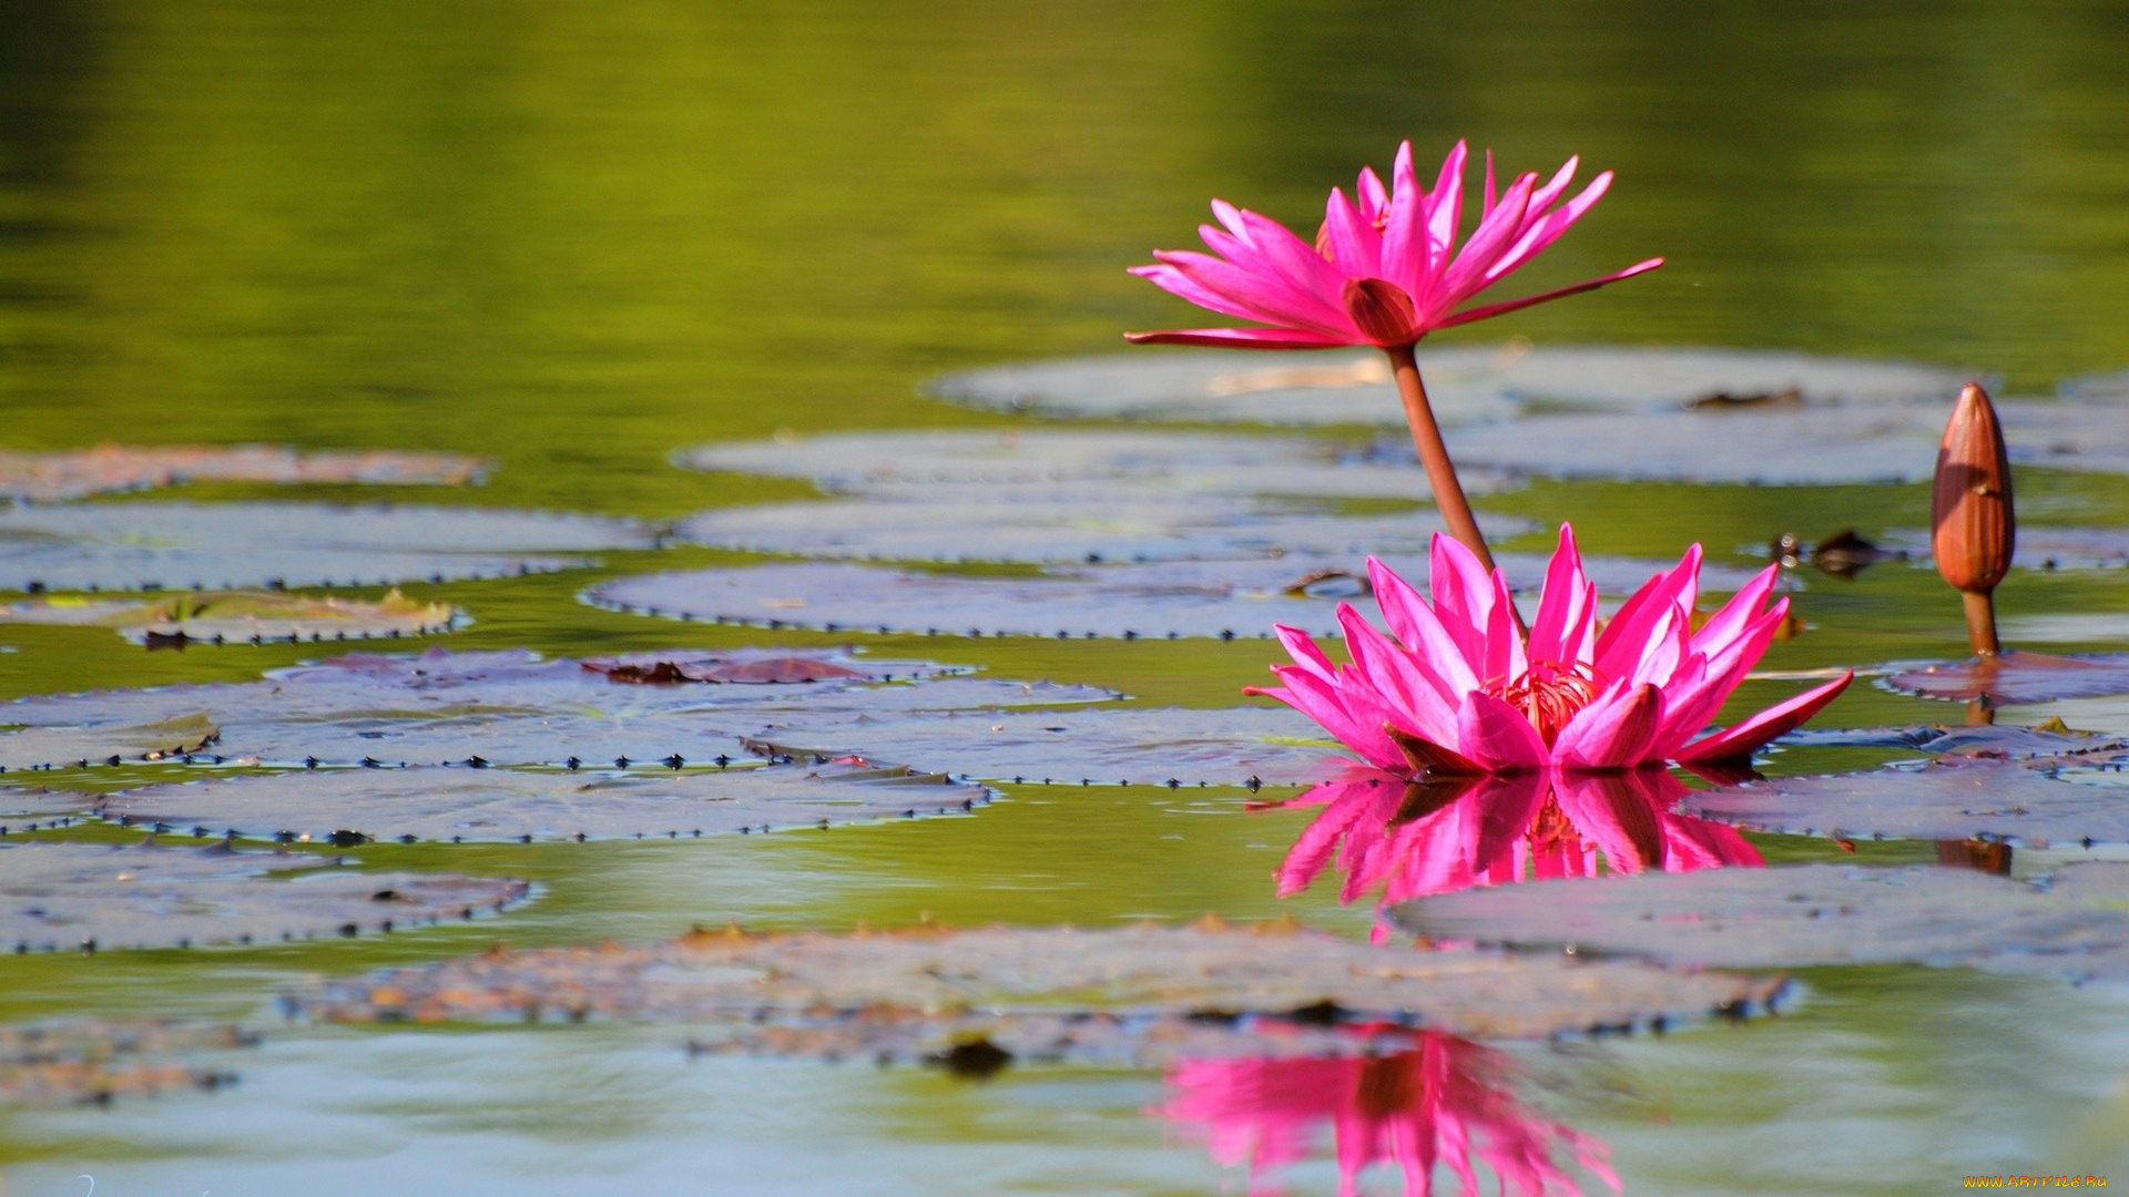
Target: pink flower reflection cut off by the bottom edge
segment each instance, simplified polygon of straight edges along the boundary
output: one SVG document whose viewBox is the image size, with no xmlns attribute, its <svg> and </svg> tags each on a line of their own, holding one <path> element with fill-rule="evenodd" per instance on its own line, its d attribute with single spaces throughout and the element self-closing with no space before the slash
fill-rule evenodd
<svg viewBox="0 0 2129 1197">
<path fill-rule="evenodd" d="M 1463 1193 L 1482 1193 L 1475 1163 L 1492 1169 L 1503 1197 L 1582 1193 L 1556 1154 L 1620 1186 L 1603 1144 L 1516 1103 L 1505 1054 L 1439 1031 L 1414 1039 L 1380 1056 L 1184 1061 L 1154 1114 L 1203 1135 L 1222 1165 L 1248 1165 L 1252 1195 L 1282 1193 L 1267 1174 L 1307 1159 L 1324 1122 L 1341 1197 L 1356 1195 L 1375 1163 L 1403 1169 L 1412 1197 L 1433 1193 L 1435 1167 Z"/>
</svg>

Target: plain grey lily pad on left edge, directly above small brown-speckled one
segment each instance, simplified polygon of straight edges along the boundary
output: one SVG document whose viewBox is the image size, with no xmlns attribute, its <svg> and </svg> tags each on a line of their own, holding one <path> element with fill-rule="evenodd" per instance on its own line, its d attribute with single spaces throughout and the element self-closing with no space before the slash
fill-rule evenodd
<svg viewBox="0 0 2129 1197">
<path fill-rule="evenodd" d="M 226 846 L 0 843 L 0 944 L 273 944 L 473 918 L 528 892 L 511 878 L 364 873 L 326 856 Z"/>
</svg>

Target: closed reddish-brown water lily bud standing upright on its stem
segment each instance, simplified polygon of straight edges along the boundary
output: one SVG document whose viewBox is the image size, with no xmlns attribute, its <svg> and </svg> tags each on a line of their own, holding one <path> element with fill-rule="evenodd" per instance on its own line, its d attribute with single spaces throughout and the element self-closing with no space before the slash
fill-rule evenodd
<svg viewBox="0 0 2129 1197">
<path fill-rule="evenodd" d="M 1931 550 L 1944 581 L 1967 594 L 1974 650 L 1997 652 L 1988 594 L 2010 571 L 2016 520 L 2003 426 L 1980 383 L 1967 383 L 1937 447 L 1937 488 L 1929 505 Z"/>
</svg>

